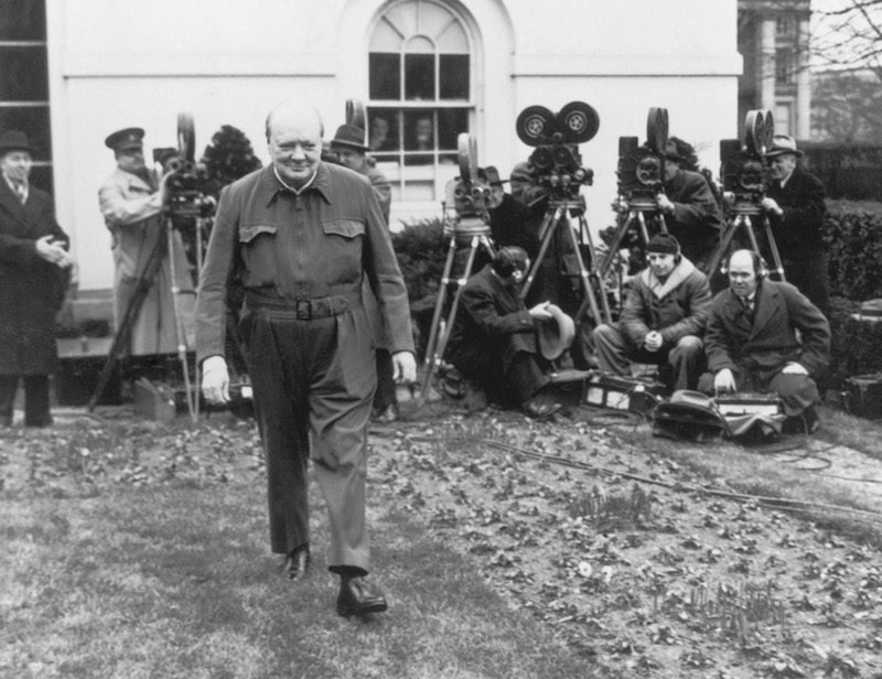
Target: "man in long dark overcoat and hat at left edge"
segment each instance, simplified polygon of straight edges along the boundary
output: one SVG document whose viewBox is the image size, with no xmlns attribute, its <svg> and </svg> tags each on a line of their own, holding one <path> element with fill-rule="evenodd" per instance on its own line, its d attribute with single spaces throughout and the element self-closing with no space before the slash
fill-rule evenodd
<svg viewBox="0 0 882 679">
<path fill-rule="evenodd" d="M 0 134 L 0 427 L 12 424 L 20 379 L 25 427 L 52 423 L 55 314 L 73 267 L 52 198 L 30 183 L 32 154 L 24 132 Z"/>
</svg>

